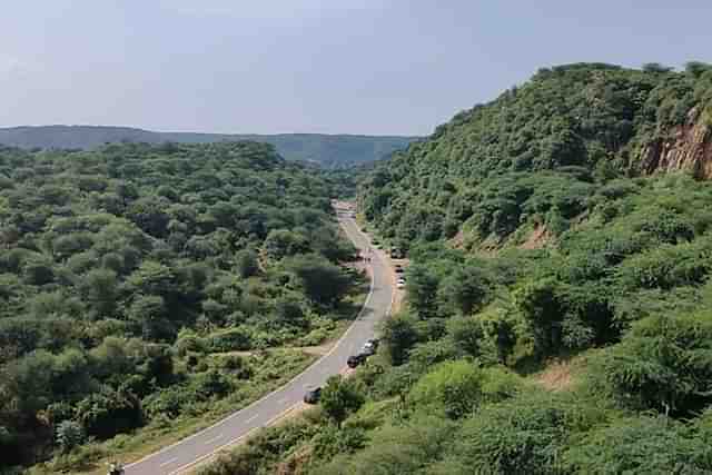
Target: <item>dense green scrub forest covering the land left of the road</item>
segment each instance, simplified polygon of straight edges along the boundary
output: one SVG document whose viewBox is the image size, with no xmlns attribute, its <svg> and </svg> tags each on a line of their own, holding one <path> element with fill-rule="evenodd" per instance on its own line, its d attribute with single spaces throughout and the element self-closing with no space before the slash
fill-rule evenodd
<svg viewBox="0 0 712 475">
<path fill-rule="evenodd" d="M 0 472 L 73 472 L 304 368 L 271 349 L 332 336 L 358 278 L 332 191 L 256 142 L 0 149 Z"/>
</svg>

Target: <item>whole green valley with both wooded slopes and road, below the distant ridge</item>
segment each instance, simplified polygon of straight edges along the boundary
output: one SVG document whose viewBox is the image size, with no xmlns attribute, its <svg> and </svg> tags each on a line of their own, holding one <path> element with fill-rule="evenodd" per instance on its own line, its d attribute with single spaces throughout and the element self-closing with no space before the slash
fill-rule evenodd
<svg viewBox="0 0 712 475">
<path fill-rule="evenodd" d="M 709 473 L 711 118 L 706 63 L 573 63 L 354 168 L 2 148 L 2 463 Z"/>
</svg>

